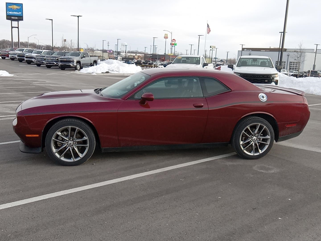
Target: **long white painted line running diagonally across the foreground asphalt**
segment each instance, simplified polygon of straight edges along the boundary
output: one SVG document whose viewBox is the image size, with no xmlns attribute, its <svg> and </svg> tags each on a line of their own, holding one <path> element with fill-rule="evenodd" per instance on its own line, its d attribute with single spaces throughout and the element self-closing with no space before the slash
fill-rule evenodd
<svg viewBox="0 0 321 241">
<path fill-rule="evenodd" d="M 98 183 L 94 183 L 94 184 L 90 184 L 90 185 L 86 185 L 86 186 L 82 186 L 82 187 L 71 188 L 71 189 L 67 189 L 67 190 L 63 190 L 63 191 L 59 191 L 59 192 L 54 192 L 54 193 L 49 193 L 49 194 L 45 194 L 45 195 L 41 195 L 41 196 L 37 196 L 37 197 L 31 197 L 31 198 L 27 198 L 27 199 L 15 201 L 15 202 L 4 203 L 4 204 L 0 205 L 0 210 L 10 208 L 10 207 L 20 206 L 20 205 L 27 204 L 27 203 L 37 202 L 40 200 L 45 200 L 45 199 L 49 199 L 49 198 L 53 198 L 53 197 L 59 197 L 59 196 L 67 195 L 70 193 L 85 191 L 85 190 L 93 189 L 96 187 L 107 186 L 110 184 L 123 182 L 123 181 L 127 181 L 127 180 L 132 180 L 132 179 L 139 178 L 139 177 L 145 177 L 148 175 L 166 172 L 166 171 L 170 171 L 170 170 L 174 170 L 174 169 L 178 169 L 178 168 L 182 168 L 182 167 L 188 167 L 188 166 L 192 166 L 192 165 L 203 163 L 203 162 L 214 161 L 214 160 L 218 160 L 221 158 L 230 157 L 233 155 L 236 155 L 236 154 L 235 153 L 228 153 L 228 154 L 224 154 L 224 155 L 220 155 L 220 156 L 216 156 L 216 157 L 205 158 L 205 159 L 201 159 L 201 160 L 197 160 L 197 161 L 193 161 L 193 162 L 187 162 L 187 163 L 183 163 L 183 164 L 179 164 L 179 165 L 175 165 L 175 166 L 156 169 L 153 171 L 142 172 L 142 173 L 126 176 L 126 177 L 120 177 L 120 178 L 116 178 L 116 179 L 112 179 L 112 180 L 108 180 L 108 181 L 104 181 L 104 182 L 98 182 Z"/>
</svg>

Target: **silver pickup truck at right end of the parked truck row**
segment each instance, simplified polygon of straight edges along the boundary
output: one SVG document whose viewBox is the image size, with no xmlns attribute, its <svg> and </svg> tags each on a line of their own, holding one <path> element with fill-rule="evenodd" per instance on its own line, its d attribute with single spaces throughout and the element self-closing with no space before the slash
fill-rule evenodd
<svg viewBox="0 0 321 241">
<path fill-rule="evenodd" d="M 59 58 L 58 66 L 61 70 L 75 68 L 80 70 L 86 66 L 96 66 L 98 57 L 90 57 L 88 52 L 70 52 Z"/>
</svg>

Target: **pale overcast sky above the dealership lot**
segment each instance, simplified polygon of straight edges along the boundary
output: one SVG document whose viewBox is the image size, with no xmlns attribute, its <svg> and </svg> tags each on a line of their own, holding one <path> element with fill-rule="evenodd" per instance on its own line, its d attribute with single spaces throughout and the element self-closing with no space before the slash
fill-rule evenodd
<svg viewBox="0 0 321 241">
<path fill-rule="evenodd" d="M 11 39 L 10 21 L 6 20 L 6 2 L 0 0 L 0 39 Z M 197 49 L 198 35 L 206 34 L 206 22 L 211 28 L 207 35 L 206 48 L 218 48 L 218 57 L 235 57 L 240 44 L 244 47 L 278 47 L 280 31 L 283 31 L 286 0 L 42 0 L 12 1 L 24 4 L 24 21 L 20 22 L 20 40 L 51 44 L 51 22 L 54 20 L 54 44 L 61 45 L 64 36 L 67 41 L 77 43 L 77 18 L 79 20 L 80 47 L 101 49 L 102 40 L 114 49 L 119 43 L 127 43 L 131 50 L 150 51 L 152 37 L 158 37 L 155 45 L 159 54 L 164 53 L 163 30 L 173 32 L 177 51 L 190 52 L 190 45 Z M 305 48 L 321 44 L 321 1 L 290 0 L 285 48 L 295 48 L 303 42 Z M 15 31 L 15 30 L 14 30 Z M 14 34 L 15 41 L 18 40 Z M 170 39 L 170 35 L 169 35 Z M 167 42 L 169 48 L 169 41 Z M 201 37 L 200 54 L 204 52 L 205 36 Z M 105 44 L 106 46 L 106 44 Z M 104 47 L 106 48 L 106 47 Z"/>
</svg>

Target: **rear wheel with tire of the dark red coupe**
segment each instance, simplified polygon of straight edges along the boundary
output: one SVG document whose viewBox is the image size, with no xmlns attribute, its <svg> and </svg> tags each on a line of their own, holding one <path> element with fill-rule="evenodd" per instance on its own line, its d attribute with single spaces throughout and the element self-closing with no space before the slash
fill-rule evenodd
<svg viewBox="0 0 321 241">
<path fill-rule="evenodd" d="M 274 131 L 263 118 L 251 116 L 243 119 L 232 136 L 231 145 L 245 159 L 264 157 L 272 148 Z"/>
</svg>

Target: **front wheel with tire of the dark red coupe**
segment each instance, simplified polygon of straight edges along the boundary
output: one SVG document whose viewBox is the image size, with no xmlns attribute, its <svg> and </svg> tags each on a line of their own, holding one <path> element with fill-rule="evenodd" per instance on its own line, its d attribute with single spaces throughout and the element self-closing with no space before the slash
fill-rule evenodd
<svg viewBox="0 0 321 241">
<path fill-rule="evenodd" d="M 48 156 L 63 166 L 77 166 L 86 162 L 95 147 L 92 129 L 79 119 L 62 119 L 50 128 L 46 136 Z"/>
</svg>

